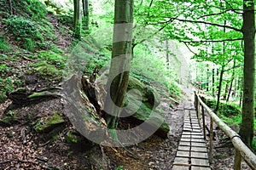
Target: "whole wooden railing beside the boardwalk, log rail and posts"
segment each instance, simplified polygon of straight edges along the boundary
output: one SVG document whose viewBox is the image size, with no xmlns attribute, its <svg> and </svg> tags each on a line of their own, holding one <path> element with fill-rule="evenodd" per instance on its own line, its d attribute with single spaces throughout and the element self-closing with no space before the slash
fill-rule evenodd
<svg viewBox="0 0 256 170">
<path fill-rule="evenodd" d="M 200 109 L 201 106 L 201 109 Z M 208 115 L 211 116 L 211 126 L 210 126 L 210 141 L 209 141 L 209 161 L 212 161 L 212 148 L 213 148 L 213 123 L 216 123 L 218 127 L 230 138 L 233 146 L 236 149 L 234 169 L 241 169 L 241 157 L 247 162 L 247 165 L 252 169 L 256 170 L 256 156 L 252 150 L 250 150 L 246 144 L 241 141 L 241 137 L 238 133 L 234 132 L 228 125 L 226 125 L 195 93 L 195 109 L 198 117 L 198 122 L 200 122 L 200 117 L 202 113 L 202 127 L 204 138 L 206 139 L 206 120 L 205 120 L 205 110 Z"/>
</svg>

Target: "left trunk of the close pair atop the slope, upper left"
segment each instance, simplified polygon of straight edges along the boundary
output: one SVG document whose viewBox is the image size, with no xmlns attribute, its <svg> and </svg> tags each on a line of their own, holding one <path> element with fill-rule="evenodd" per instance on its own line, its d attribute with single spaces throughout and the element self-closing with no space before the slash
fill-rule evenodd
<svg viewBox="0 0 256 170">
<path fill-rule="evenodd" d="M 81 38 L 81 7 L 79 0 L 73 0 L 73 29 L 74 37 Z"/>
</svg>

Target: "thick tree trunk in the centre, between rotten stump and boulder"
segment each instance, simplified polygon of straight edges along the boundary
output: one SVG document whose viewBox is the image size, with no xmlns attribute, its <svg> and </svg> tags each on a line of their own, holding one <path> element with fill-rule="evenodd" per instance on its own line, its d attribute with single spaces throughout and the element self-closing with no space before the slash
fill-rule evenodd
<svg viewBox="0 0 256 170">
<path fill-rule="evenodd" d="M 115 129 L 119 122 L 123 100 L 128 86 L 131 67 L 131 34 L 133 22 L 133 0 L 115 0 L 113 50 L 108 75 L 107 97 L 104 111 L 108 128 Z"/>
</svg>

